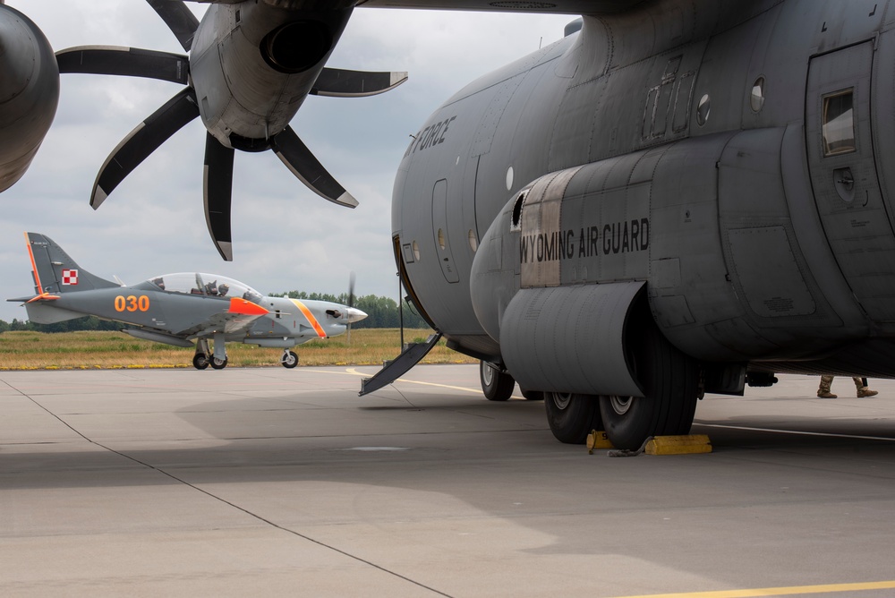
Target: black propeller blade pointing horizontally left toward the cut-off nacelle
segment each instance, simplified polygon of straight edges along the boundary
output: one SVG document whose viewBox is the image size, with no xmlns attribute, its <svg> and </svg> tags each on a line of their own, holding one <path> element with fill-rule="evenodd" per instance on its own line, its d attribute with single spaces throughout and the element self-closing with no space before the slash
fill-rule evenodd
<svg viewBox="0 0 895 598">
<path fill-rule="evenodd" d="M 146 77 L 186 85 L 190 57 L 139 47 L 80 46 L 56 52 L 59 73 L 114 74 Z"/>
</svg>

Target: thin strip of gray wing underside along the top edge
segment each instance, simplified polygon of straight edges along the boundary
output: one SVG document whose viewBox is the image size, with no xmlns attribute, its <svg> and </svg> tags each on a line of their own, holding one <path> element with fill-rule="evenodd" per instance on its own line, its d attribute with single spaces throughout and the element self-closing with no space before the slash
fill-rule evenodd
<svg viewBox="0 0 895 598">
<path fill-rule="evenodd" d="M 612 14 L 623 13 L 647 0 L 554 0 L 553 2 L 489 2 L 489 0 L 360 0 L 369 8 L 427 8 L 430 10 L 502 11 L 510 13 Z"/>
</svg>

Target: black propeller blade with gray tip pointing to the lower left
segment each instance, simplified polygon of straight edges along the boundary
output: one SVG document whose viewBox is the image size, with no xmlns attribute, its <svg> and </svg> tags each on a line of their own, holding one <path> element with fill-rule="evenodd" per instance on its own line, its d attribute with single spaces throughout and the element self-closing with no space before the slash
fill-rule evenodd
<svg viewBox="0 0 895 598">
<path fill-rule="evenodd" d="M 164 106 L 158 108 L 141 124 L 137 125 L 118 147 L 112 150 L 106 162 L 99 169 L 97 180 L 93 184 L 90 206 L 97 209 L 115 190 L 124 177 L 140 166 L 149 154 L 158 149 L 168 137 L 180 131 L 184 124 L 199 115 L 196 95 L 192 88 L 184 88 Z"/>
</svg>

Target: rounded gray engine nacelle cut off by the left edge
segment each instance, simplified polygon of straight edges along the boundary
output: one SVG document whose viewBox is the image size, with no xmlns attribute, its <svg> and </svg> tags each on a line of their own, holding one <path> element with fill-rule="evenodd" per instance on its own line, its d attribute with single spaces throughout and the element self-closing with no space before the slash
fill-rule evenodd
<svg viewBox="0 0 895 598">
<path fill-rule="evenodd" d="M 0 0 L 0 192 L 25 174 L 58 102 L 53 48 L 33 21 Z"/>
</svg>

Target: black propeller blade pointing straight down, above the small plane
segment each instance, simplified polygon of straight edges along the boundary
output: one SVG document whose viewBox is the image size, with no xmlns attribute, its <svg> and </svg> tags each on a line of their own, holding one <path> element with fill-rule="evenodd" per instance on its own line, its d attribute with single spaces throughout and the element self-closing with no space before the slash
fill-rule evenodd
<svg viewBox="0 0 895 598">
<path fill-rule="evenodd" d="M 234 150 L 222 145 L 211 133 L 205 139 L 205 222 L 217 252 L 225 261 L 233 261 L 230 235 L 230 199 L 233 192 Z"/>
</svg>

